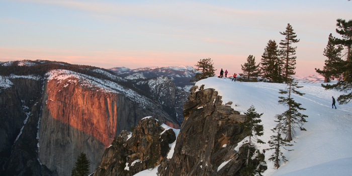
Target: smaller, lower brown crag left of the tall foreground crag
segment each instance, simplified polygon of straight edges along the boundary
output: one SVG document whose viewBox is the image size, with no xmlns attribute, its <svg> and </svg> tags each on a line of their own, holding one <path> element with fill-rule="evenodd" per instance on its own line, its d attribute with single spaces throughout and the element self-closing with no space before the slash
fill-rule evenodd
<svg viewBox="0 0 352 176">
<path fill-rule="evenodd" d="M 104 152 L 94 176 L 133 175 L 155 167 L 175 141 L 172 129 L 163 129 L 152 117 L 142 119 L 131 134 L 122 131 Z"/>
</svg>

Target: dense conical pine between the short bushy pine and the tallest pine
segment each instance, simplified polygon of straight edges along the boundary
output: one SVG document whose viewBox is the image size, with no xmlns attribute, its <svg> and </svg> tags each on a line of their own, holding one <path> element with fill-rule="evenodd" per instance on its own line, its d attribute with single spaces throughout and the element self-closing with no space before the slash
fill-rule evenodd
<svg viewBox="0 0 352 176">
<path fill-rule="evenodd" d="M 283 62 L 279 58 L 278 45 L 275 40 L 269 40 L 267 47 L 264 49 L 264 53 L 261 56 L 261 73 L 262 76 L 271 79 L 273 82 L 282 82 L 282 69 Z"/>
</svg>

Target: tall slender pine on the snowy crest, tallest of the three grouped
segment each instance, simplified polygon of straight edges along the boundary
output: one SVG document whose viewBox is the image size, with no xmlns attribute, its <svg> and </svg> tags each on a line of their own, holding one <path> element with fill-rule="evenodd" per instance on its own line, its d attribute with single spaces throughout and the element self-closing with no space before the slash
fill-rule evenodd
<svg viewBox="0 0 352 176">
<path fill-rule="evenodd" d="M 285 62 L 284 65 L 284 74 L 285 78 L 288 79 L 290 75 L 296 74 L 294 71 L 296 68 L 296 49 L 297 47 L 292 47 L 292 43 L 297 43 L 300 40 L 296 39 L 297 35 L 296 33 L 293 32 L 292 26 L 290 24 L 287 24 L 286 31 L 285 32 L 280 32 L 280 34 L 285 36 L 285 40 L 281 40 L 280 42 L 280 53 L 281 53 L 281 58 Z"/>
</svg>

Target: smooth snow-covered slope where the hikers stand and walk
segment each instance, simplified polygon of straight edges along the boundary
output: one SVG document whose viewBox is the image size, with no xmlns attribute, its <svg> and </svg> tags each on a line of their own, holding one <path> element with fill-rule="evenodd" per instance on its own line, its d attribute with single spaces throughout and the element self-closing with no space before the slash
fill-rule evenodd
<svg viewBox="0 0 352 176">
<path fill-rule="evenodd" d="M 314 76 L 313 76 L 314 77 Z M 296 136 L 292 143 L 294 146 L 283 150 L 289 160 L 287 163 L 280 163 L 279 169 L 274 168 L 273 162 L 267 160 L 268 170 L 263 175 L 351 175 L 352 173 L 352 103 L 337 105 L 337 109 L 331 108 L 331 96 L 337 98 L 340 92 L 324 90 L 321 87 L 321 80 L 312 81 L 314 78 L 300 77 L 296 79 L 302 85 L 300 92 L 304 96 L 293 98 L 301 103 L 306 111 L 302 114 L 308 115 L 304 124 L 307 131 L 296 130 Z M 286 110 L 283 105 L 278 105 L 280 89 L 285 89 L 286 84 L 267 82 L 234 82 L 227 78 L 211 77 L 200 80 L 196 85 L 205 84 L 205 89 L 214 88 L 222 96 L 223 104 L 233 102 L 231 107 L 240 111 L 241 114 L 254 105 L 257 113 L 263 113 L 261 120 L 265 133 L 260 137 L 265 142 L 270 140 L 274 133 L 271 131 L 276 123 L 275 115 Z M 269 148 L 268 144 L 257 144 L 262 150 Z M 273 151 L 265 153 L 269 158 Z M 143 174 L 156 175 L 156 168 L 145 170 Z"/>
</svg>

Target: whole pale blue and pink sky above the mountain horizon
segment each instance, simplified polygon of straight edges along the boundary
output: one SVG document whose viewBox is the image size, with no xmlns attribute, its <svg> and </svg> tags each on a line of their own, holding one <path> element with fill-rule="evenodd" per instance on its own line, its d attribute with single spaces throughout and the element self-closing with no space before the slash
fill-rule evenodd
<svg viewBox="0 0 352 176">
<path fill-rule="evenodd" d="M 300 42 L 296 74 L 317 74 L 336 19 L 352 1 L 61 1 L 0 0 L 0 61 L 55 60 L 103 68 L 195 66 L 216 73 L 260 62 L 289 23 Z"/>
</svg>

